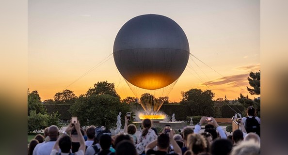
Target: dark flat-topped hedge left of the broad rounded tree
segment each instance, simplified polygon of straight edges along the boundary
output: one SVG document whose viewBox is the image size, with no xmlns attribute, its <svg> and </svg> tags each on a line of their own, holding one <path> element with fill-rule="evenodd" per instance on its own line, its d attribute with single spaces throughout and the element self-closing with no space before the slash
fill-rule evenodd
<svg viewBox="0 0 288 155">
<path fill-rule="evenodd" d="M 68 109 L 70 109 L 70 106 L 72 104 L 55 104 L 55 105 L 45 105 L 45 108 L 47 109 L 47 112 L 49 114 L 53 112 L 57 112 L 60 114 L 61 120 L 70 120 L 72 115 L 68 112 Z"/>
</svg>

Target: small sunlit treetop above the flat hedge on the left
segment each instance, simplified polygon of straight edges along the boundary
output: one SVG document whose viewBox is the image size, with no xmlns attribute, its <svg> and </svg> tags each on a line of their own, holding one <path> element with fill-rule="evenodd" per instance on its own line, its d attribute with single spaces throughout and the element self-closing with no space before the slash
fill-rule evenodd
<svg viewBox="0 0 288 155">
<path fill-rule="evenodd" d="M 76 99 L 77 96 L 75 93 L 67 89 L 54 95 L 54 101 L 56 104 L 73 104 L 75 103 Z"/>
</svg>

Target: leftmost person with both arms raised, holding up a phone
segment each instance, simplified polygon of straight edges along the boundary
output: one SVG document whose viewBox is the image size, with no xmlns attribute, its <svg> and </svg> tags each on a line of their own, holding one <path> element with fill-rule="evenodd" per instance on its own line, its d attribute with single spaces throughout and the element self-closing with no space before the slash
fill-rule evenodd
<svg viewBox="0 0 288 155">
<path fill-rule="evenodd" d="M 69 133 L 73 128 L 75 128 L 77 135 L 79 135 L 79 142 L 80 142 L 80 147 L 78 151 L 74 153 L 74 155 L 84 155 L 86 148 L 85 140 L 80 130 L 79 121 L 77 123 L 70 123 L 67 126 L 63 134 L 56 140 L 50 155 L 59 155 L 58 154 L 59 149 L 61 149 L 62 155 L 70 154 L 70 149 L 72 147 L 72 140 L 67 133 Z"/>
</svg>

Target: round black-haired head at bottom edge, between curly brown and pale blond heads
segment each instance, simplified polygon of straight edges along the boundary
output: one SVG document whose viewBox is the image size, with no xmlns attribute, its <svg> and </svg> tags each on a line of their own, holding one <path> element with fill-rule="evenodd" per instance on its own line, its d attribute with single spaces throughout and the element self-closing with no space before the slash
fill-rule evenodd
<svg viewBox="0 0 288 155">
<path fill-rule="evenodd" d="M 229 155 L 232 150 L 233 144 L 230 140 L 218 139 L 212 143 L 212 155 Z"/>
</svg>

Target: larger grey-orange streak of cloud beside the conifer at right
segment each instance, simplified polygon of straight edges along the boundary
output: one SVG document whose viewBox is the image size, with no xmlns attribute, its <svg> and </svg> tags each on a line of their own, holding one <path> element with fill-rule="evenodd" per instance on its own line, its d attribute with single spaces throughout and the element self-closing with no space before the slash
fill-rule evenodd
<svg viewBox="0 0 288 155">
<path fill-rule="evenodd" d="M 218 78 L 216 80 L 204 82 L 203 85 L 217 86 L 217 85 L 233 85 L 233 86 L 246 86 L 248 84 L 247 77 L 249 74 L 233 75 L 223 78 Z"/>
</svg>

